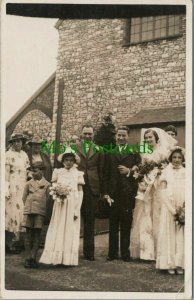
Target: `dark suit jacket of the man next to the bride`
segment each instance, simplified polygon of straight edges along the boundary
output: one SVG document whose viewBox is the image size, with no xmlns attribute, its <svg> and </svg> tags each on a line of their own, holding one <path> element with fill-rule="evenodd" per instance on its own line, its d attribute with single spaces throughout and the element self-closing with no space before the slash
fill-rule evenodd
<svg viewBox="0 0 194 300">
<path fill-rule="evenodd" d="M 125 207 L 128 206 L 129 200 L 129 205 L 133 208 L 138 183 L 133 174 L 130 174 L 129 177 L 120 174 L 118 166 L 123 165 L 131 169 L 133 166 L 138 165 L 140 161 L 139 154 L 107 154 L 103 177 L 103 194 L 108 194 L 116 202 L 120 201 L 121 206 L 123 202 Z"/>
</svg>

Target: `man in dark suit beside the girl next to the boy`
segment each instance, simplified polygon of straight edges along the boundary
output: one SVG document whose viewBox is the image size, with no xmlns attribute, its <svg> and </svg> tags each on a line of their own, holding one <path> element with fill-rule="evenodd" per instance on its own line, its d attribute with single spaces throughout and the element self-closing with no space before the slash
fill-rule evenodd
<svg viewBox="0 0 194 300">
<path fill-rule="evenodd" d="M 82 128 L 82 141 L 76 144 L 76 153 L 80 157 L 78 169 L 84 172 L 82 216 L 84 223 L 84 258 L 90 261 L 94 258 L 94 225 L 97 203 L 101 191 L 103 155 L 95 151 L 93 143 L 94 129 L 91 125 Z"/>
</svg>

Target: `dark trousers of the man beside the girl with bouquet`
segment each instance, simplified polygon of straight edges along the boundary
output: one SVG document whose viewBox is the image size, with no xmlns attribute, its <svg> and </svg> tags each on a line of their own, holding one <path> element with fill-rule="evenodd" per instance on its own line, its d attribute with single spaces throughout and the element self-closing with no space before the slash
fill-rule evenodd
<svg viewBox="0 0 194 300">
<path fill-rule="evenodd" d="M 82 217 L 84 226 L 83 254 L 85 257 L 94 256 L 94 225 L 98 196 L 93 195 L 89 186 L 83 188 Z"/>
</svg>

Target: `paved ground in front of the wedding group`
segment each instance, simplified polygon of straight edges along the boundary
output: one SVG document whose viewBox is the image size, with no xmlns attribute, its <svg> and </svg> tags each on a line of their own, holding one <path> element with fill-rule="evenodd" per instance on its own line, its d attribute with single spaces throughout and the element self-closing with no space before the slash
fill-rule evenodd
<svg viewBox="0 0 194 300">
<path fill-rule="evenodd" d="M 103 292 L 183 292 L 184 276 L 168 275 L 155 269 L 154 262 L 106 261 L 108 234 L 95 237 L 94 262 L 82 256 L 77 267 L 46 266 L 24 269 L 24 253 L 6 255 L 5 288 L 34 291 L 103 291 Z M 39 250 L 39 256 L 42 249 Z"/>
</svg>

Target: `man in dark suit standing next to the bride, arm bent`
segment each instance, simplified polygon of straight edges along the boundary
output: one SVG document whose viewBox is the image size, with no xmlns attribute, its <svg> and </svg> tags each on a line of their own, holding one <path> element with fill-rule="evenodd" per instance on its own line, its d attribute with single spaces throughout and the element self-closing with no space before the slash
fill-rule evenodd
<svg viewBox="0 0 194 300">
<path fill-rule="evenodd" d="M 127 149 L 129 137 L 128 127 L 117 129 L 114 151 L 106 155 L 106 168 L 103 178 L 104 198 L 110 203 L 109 215 L 109 253 L 107 260 L 118 258 L 119 228 L 120 252 L 124 261 L 130 260 L 130 231 L 132 211 L 135 206 L 137 182 L 133 177 L 133 169 L 140 161 L 140 155 L 130 153 Z"/>
</svg>

